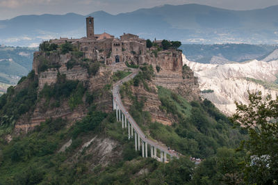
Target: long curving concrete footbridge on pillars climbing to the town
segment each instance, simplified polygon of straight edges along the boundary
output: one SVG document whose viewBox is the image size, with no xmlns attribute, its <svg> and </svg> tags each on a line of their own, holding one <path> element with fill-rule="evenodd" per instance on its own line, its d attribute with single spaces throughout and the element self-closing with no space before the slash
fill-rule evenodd
<svg viewBox="0 0 278 185">
<path fill-rule="evenodd" d="M 129 139 L 134 138 L 135 150 L 142 150 L 142 157 L 148 156 L 147 150 L 149 146 L 151 150 L 151 157 L 161 162 L 167 161 L 167 154 L 171 159 L 173 156 L 179 158 L 179 154 L 174 152 L 174 150 L 170 150 L 170 148 L 167 148 L 164 145 L 147 138 L 136 121 L 133 120 L 132 116 L 129 115 L 128 111 L 122 104 L 122 99 L 120 97 L 120 86 L 122 83 L 136 77 L 137 74 L 138 70 L 133 70 L 129 76 L 125 77 L 121 81 L 117 81 L 117 83 L 113 85 L 113 110 L 116 110 L 117 121 L 122 122 L 122 129 L 128 129 Z M 157 150 L 161 152 L 159 158 L 157 156 Z"/>
</svg>

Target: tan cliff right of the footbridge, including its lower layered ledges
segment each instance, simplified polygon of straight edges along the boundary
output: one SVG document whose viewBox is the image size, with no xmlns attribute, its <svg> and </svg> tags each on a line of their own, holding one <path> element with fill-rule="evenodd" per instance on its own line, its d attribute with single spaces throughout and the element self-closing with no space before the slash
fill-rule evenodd
<svg viewBox="0 0 278 185">
<path fill-rule="evenodd" d="M 168 88 L 188 101 L 199 100 L 197 78 L 194 77 L 193 71 L 189 67 L 183 66 L 181 51 L 159 51 L 157 56 L 147 54 L 140 64 L 143 63 L 154 67 L 154 77 L 151 81 L 147 81 L 149 90 L 146 90 L 141 83 L 139 86 L 131 86 L 131 92 L 138 98 L 138 101 L 145 102 L 142 111 L 148 111 L 151 114 L 152 122 L 171 125 L 177 120 L 173 115 L 161 110 L 161 101 L 156 86 Z M 128 109 L 133 104 L 133 101 L 127 96 L 123 97 L 123 102 Z"/>
</svg>

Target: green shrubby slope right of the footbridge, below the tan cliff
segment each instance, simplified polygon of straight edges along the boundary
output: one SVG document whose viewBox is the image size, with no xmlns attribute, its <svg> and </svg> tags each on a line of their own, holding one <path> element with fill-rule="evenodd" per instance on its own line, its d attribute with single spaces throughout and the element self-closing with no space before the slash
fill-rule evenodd
<svg viewBox="0 0 278 185">
<path fill-rule="evenodd" d="M 235 147 L 243 139 L 239 130 L 231 129 L 232 124 L 213 104 L 205 99 L 203 102 L 187 102 L 186 99 L 158 86 L 161 111 L 174 117 L 172 127 L 152 122 L 150 114 L 142 111 L 147 97 L 136 97 L 130 86 L 142 86 L 149 92 L 147 81 L 152 79 L 154 69 L 151 65 L 141 67 L 142 72 L 131 81 L 124 83 L 120 93 L 133 101 L 130 113 L 140 126 L 156 140 L 161 140 L 174 150 L 183 154 L 206 158 L 217 152 L 219 147 Z"/>
</svg>

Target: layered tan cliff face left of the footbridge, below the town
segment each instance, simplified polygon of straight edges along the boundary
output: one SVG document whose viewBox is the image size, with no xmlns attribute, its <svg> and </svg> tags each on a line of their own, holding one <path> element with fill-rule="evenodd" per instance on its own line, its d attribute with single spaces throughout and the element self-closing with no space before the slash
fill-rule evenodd
<svg viewBox="0 0 278 185">
<path fill-rule="evenodd" d="M 39 97 L 44 85 L 51 86 L 57 82 L 58 74 L 65 74 L 67 80 L 82 82 L 86 86 L 88 93 L 95 94 L 94 102 L 99 105 L 97 106 L 99 110 L 112 111 L 111 93 L 108 90 L 104 91 L 104 86 L 111 83 L 113 72 L 106 67 L 100 67 L 94 76 L 88 74 L 88 70 L 85 67 L 81 67 L 81 65 L 74 65 L 72 69 L 67 69 L 67 62 L 71 59 L 71 54 L 58 55 L 54 53 L 46 55 L 43 52 L 35 52 L 33 70 L 38 75 L 38 101 L 33 112 L 26 113 L 17 121 L 15 132 L 28 132 L 47 118 L 63 118 L 71 124 L 76 122 L 76 120 L 81 120 L 86 115 L 88 105 L 85 104 L 85 93 L 82 99 L 84 103 L 79 104 L 73 109 L 70 107 L 68 99 L 62 99 L 60 105 L 56 107 L 50 106 L 56 102 L 56 99 L 51 98 L 47 102 L 47 99 L 44 97 Z M 53 67 L 44 72 L 39 72 L 40 66 L 44 61 L 48 61 L 48 65 Z"/>
</svg>

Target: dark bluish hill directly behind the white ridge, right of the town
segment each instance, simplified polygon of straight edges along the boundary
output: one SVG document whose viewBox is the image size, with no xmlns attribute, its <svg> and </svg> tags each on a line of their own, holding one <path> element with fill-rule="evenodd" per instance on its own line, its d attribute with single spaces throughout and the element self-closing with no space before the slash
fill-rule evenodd
<svg viewBox="0 0 278 185">
<path fill-rule="evenodd" d="M 261 60 L 268 56 L 278 56 L 273 53 L 277 45 L 247 45 L 247 44 L 224 44 L 224 45 L 181 45 L 180 49 L 189 61 L 197 63 L 224 64 L 230 62 L 244 62 L 252 59 Z M 276 51 L 276 50 L 275 50 Z M 276 51 L 277 52 L 277 51 Z M 278 58 L 278 57 L 277 57 Z M 277 59 L 275 58 L 275 59 Z M 265 61 L 265 60 L 264 60 Z M 268 60 L 270 61 L 270 60 Z"/>
</svg>

